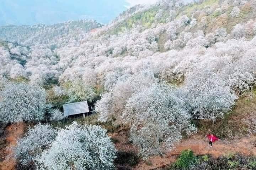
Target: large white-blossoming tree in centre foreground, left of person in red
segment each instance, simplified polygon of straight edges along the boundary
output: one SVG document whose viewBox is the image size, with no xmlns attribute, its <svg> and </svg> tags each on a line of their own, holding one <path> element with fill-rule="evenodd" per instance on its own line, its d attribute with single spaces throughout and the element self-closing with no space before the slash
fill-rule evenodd
<svg viewBox="0 0 256 170">
<path fill-rule="evenodd" d="M 163 84 L 153 84 L 129 98 L 122 116 L 131 124 L 130 140 L 143 158 L 172 148 L 182 132 L 191 135 L 196 131 L 183 105 L 175 89 Z"/>
</svg>

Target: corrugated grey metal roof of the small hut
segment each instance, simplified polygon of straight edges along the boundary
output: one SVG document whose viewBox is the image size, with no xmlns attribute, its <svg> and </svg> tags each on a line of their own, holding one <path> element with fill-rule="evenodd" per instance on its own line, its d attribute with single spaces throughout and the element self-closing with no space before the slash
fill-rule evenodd
<svg viewBox="0 0 256 170">
<path fill-rule="evenodd" d="M 89 112 L 87 101 L 64 104 L 63 109 L 64 109 L 64 116 Z"/>
</svg>

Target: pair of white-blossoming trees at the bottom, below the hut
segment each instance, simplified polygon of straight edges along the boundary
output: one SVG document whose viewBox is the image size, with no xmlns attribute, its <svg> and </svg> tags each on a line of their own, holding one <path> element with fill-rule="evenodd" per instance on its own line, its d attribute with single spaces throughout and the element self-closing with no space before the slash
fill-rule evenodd
<svg viewBox="0 0 256 170">
<path fill-rule="evenodd" d="M 106 132 L 76 122 L 58 131 L 39 123 L 17 141 L 14 154 L 23 167 L 38 170 L 113 170 L 116 149 Z"/>
</svg>

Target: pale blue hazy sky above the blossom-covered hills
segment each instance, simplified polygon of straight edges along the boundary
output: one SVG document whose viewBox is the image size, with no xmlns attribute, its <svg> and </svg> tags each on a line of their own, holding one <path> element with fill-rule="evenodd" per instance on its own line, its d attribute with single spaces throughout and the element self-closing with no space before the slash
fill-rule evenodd
<svg viewBox="0 0 256 170">
<path fill-rule="evenodd" d="M 157 0 L 0 0 L 0 25 L 54 24 L 77 19 L 108 23 L 127 7 Z"/>
</svg>

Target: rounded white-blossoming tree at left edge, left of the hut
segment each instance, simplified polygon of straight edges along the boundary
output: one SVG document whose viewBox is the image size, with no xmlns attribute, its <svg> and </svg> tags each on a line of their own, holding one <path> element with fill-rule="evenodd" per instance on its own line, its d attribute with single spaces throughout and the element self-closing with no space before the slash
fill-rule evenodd
<svg viewBox="0 0 256 170">
<path fill-rule="evenodd" d="M 0 118 L 6 123 L 44 119 L 46 92 L 39 86 L 9 83 L 0 91 Z"/>
</svg>

